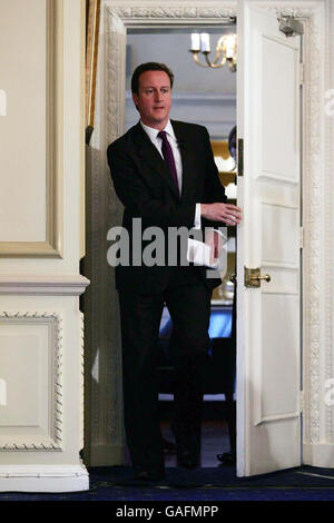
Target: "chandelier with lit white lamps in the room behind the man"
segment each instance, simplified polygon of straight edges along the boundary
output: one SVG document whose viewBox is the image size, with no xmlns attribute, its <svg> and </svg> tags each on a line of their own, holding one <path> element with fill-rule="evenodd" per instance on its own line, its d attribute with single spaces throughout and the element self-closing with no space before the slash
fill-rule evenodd
<svg viewBox="0 0 334 523">
<path fill-rule="evenodd" d="M 191 49 L 193 58 L 200 67 L 210 67 L 218 69 L 228 62 L 229 69 L 235 72 L 237 63 L 237 34 L 223 34 L 219 38 L 216 47 L 216 58 L 210 61 L 210 37 L 207 32 L 193 32 L 191 34 Z M 202 63 L 198 53 L 202 52 L 205 57 L 206 63 Z"/>
</svg>

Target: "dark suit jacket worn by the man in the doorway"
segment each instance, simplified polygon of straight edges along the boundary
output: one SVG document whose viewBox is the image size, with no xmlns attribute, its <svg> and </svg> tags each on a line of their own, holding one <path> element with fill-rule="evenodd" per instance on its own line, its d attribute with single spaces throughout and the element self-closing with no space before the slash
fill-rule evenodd
<svg viewBox="0 0 334 523">
<path fill-rule="evenodd" d="M 141 218 L 143 230 L 158 226 L 191 229 L 197 203 L 226 201 L 205 127 L 171 120 L 183 162 L 183 189 L 179 197 L 168 168 L 140 122 L 114 141 L 107 150 L 108 164 L 117 196 L 125 206 L 122 226 L 130 237 L 132 218 Z M 204 227 L 219 227 L 222 223 L 202 220 Z M 149 241 L 143 241 L 143 249 Z M 168 241 L 166 240 L 166 249 Z M 167 259 L 167 250 L 166 250 Z M 189 284 L 204 278 L 209 288 L 220 284 L 219 278 L 206 278 L 204 267 L 118 266 L 117 288 L 130 287 L 140 293 L 161 293 L 167 285 Z"/>
</svg>

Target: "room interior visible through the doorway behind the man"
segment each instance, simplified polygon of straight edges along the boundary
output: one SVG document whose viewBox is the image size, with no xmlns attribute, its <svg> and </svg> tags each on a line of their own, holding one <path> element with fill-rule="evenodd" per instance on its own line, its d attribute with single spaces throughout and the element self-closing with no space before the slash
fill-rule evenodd
<svg viewBox="0 0 334 523">
<path fill-rule="evenodd" d="M 166 63 L 175 75 L 170 118 L 207 128 L 222 185 L 228 203 L 236 205 L 236 162 L 228 149 L 228 137 L 236 126 L 236 73 L 226 63 L 220 69 L 195 63 L 190 37 L 198 28 L 127 28 L 125 130 L 137 124 L 130 78 L 143 62 Z M 206 26 L 212 47 L 222 34 L 235 33 L 236 24 Z M 173 52 L 170 52 L 173 49 Z M 178 50 L 176 52 L 175 50 Z M 217 455 L 235 451 L 235 328 L 234 282 L 236 272 L 236 228 L 227 228 L 226 270 L 214 289 L 210 315 L 210 349 L 204 371 L 202 466 L 217 466 Z M 173 433 L 173 359 L 169 341 L 173 325 L 165 307 L 158 343 L 159 409 L 165 441 L 166 466 L 176 466 Z M 235 454 L 235 452 L 234 452 Z"/>
</svg>

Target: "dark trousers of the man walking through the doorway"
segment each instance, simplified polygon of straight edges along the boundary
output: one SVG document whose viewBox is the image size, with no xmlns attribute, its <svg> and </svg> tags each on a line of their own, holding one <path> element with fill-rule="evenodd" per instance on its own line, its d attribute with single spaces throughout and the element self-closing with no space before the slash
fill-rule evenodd
<svg viewBox="0 0 334 523">
<path fill-rule="evenodd" d="M 157 341 L 165 303 L 177 346 L 174 355 L 176 427 L 183 437 L 196 434 L 196 444 L 200 445 L 202 368 L 209 348 L 210 295 L 202 279 L 190 285 L 169 285 L 161 294 L 119 289 L 125 428 L 136 468 L 164 468 Z"/>
</svg>

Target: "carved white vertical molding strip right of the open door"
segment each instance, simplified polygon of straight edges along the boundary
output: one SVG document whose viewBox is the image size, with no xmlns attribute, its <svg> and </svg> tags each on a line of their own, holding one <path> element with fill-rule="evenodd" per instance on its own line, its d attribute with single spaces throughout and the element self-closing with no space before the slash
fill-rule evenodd
<svg viewBox="0 0 334 523">
<path fill-rule="evenodd" d="M 323 306 L 325 300 L 323 280 L 324 267 L 324 237 L 322 230 L 324 216 L 320 213 L 323 206 L 324 190 L 324 111 L 322 105 L 322 92 L 324 92 L 323 75 L 323 46 L 324 19 L 321 9 L 312 13 L 305 12 L 301 16 L 307 17 L 305 23 L 305 112 L 304 112 L 304 174 L 303 174 L 303 206 L 304 206 L 304 441 L 312 444 L 322 440 L 321 417 L 324 408 L 322 365 L 323 333 Z"/>
</svg>

